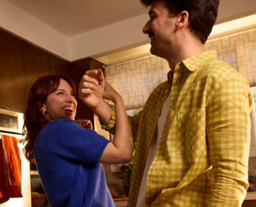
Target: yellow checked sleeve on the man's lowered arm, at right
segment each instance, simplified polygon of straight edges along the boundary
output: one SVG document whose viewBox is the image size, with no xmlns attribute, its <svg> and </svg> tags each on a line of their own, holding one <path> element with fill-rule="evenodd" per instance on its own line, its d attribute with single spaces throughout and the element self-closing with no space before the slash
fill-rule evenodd
<svg viewBox="0 0 256 207">
<path fill-rule="evenodd" d="M 229 79 L 206 107 L 214 183 L 207 206 L 241 206 L 248 188 L 250 111 L 253 96 L 239 75 Z"/>
</svg>

